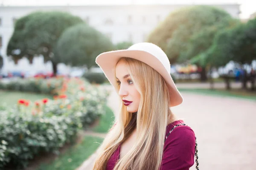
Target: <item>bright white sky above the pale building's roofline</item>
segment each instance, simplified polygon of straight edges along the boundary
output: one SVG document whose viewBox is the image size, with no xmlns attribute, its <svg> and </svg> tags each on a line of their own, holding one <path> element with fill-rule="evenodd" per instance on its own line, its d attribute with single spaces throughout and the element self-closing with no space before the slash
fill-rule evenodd
<svg viewBox="0 0 256 170">
<path fill-rule="evenodd" d="M 107 3 L 106 3 L 107 1 Z M 4 6 L 65 6 L 69 5 L 114 5 L 114 4 L 240 4 L 240 18 L 248 18 L 256 12 L 256 0 L 0 0 Z"/>
</svg>

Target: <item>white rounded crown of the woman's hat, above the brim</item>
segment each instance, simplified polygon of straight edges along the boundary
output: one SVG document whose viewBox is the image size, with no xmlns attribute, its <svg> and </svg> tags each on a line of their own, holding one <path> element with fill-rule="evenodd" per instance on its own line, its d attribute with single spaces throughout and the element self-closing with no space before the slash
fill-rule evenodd
<svg viewBox="0 0 256 170">
<path fill-rule="evenodd" d="M 128 49 L 129 50 L 145 51 L 145 52 L 152 54 L 160 62 L 163 63 L 163 66 L 166 68 L 166 70 L 169 73 L 171 72 L 171 66 L 170 66 L 170 61 L 169 61 L 168 57 L 166 56 L 165 52 L 157 45 L 152 44 L 150 42 L 140 42 L 140 43 L 131 45 L 131 47 L 129 47 Z"/>
</svg>

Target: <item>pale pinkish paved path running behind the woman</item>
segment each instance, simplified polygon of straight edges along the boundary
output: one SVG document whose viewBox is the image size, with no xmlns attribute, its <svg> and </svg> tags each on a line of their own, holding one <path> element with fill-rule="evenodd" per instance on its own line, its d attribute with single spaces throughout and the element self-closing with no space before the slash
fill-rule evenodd
<svg viewBox="0 0 256 170">
<path fill-rule="evenodd" d="M 185 92 L 182 95 L 183 104 L 172 111 L 195 131 L 200 169 L 254 170 L 256 102 Z M 108 103 L 115 114 L 118 112 L 117 97 L 112 91 Z M 95 157 L 96 154 L 79 170 L 91 170 Z M 194 170 L 195 165 L 190 169 Z"/>
</svg>

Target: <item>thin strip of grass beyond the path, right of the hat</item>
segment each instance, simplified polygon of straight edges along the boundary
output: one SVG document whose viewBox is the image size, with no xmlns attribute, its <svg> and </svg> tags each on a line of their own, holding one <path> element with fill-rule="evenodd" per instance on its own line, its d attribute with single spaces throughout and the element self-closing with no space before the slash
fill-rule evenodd
<svg viewBox="0 0 256 170">
<path fill-rule="evenodd" d="M 185 88 L 179 88 L 180 92 L 192 92 L 192 93 L 199 93 L 199 94 L 205 94 L 205 95 L 217 95 L 217 96 L 229 96 L 229 97 L 238 97 L 243 99 L 250 99 L 256 101 L 256 92 L 250 92 L 250 91 L 243 91 L 241 89 L 232 89 L 230 91 L 227 91 L 225 89 L 185 89 Z"/>
</svg>

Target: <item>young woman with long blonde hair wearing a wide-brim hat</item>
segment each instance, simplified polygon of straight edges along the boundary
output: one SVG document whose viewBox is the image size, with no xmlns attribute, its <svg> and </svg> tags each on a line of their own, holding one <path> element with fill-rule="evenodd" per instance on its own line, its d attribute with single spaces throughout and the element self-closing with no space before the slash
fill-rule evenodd
<svg viewBox="0 0 256 170">
<path fill-rule="evenodd" d="M 162 49 L 137 43 L 102 53 L 96 63 L 119 94 L 120 111 L 93 170 L 189 170 L 195 133 L 170 110 L 183 98 Z"/>
</svg>

